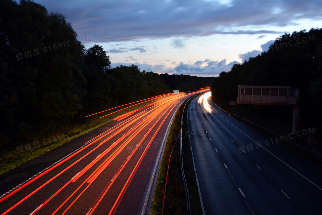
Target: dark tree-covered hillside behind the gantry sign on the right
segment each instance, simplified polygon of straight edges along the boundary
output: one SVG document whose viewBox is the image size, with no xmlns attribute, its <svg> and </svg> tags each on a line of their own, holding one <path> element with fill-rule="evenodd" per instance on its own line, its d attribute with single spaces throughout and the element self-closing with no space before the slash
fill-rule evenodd
<svg viewBox="0 0 322 215">
<path fill-rule="evenodd" d="M 214 100 L 237 100 L 238 85 L 291 86 L 300 90 L 301 121 L 321 125 L 322 29 L 280 35 L 267 52 L 213 80 Z M 264 105 L 262 105 L 264 106 Z M 265 107 L 258 107 L 263 111 Z"/>
</svg>

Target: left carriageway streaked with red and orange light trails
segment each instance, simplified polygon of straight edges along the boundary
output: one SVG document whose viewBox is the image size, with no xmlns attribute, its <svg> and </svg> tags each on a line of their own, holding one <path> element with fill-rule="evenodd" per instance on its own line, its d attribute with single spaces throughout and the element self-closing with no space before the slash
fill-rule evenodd
<svg viewBox="0 0 322 215">
<path fill-rule="evenodd" d="M 52 165 L 44 161 L 49 168 L 14 190 L 19 182 L 8 187 L 10 192 L 0 198 L 0 214 L 148 214 L 172 118 L 196 93 L 160 96 L 114 119 L 91 140 L 76 138 L 81 142 L 77 150 Z M 28 162 L 37 159 L 44 156 Z M 20 182 L 32 176 L 23 175 Z M 8 172 L 1 181 L 10 177 Z"/>
</svg>

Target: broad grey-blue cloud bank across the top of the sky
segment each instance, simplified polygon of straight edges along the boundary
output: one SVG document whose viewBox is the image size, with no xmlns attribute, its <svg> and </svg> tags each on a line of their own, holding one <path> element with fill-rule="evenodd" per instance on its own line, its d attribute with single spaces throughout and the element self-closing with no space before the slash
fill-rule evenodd
<svg viewBox="0 0 322 215">
<path fill-rule="evenodd" d="M 50 12 L 65 15 L 80 36 L 92 34 L 95 43 L 201 34 L 279 34 L 261 29 L 296 25 L 300 19 L 320 20 L 322 16 L 322 2 L 315 0 L 300 4 L 294 0 L 232 0 L 229 4 L 206 0 L 37 2 Z"/>
</svg>

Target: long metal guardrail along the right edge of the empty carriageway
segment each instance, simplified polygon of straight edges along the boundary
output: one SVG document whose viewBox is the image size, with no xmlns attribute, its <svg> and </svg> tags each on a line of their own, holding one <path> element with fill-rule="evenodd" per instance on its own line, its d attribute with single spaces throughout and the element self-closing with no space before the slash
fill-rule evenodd
<svg viewBox="0 0 322 215">
<path fill-rule="evenodd" d="M 235 116 L 237 116 L 236 114 L 234 114 L 234 115 L 235 115 Z M 308 156 L 308 157 L 309 157 L 309 158 L 311 158 L 312 160 L 317 161 L 317 162 L 319 162 L 319 163 L 321 163 L 321 164 L 322 164 L 322 157 L 318 156 L 318 155 L 317 155 L 317 154 L 315 154 L 314 152 L 312 152 L 312 151 L 310 151 L 310 150 L 308 150 L 308 149 L 304 148 L 303 146 L 298 145 L 298 144 L 297 144 L 297 143 L 295 143 L 295 142 L 292 142 L 292 141 L 289 141 L 289 140 L 286 140 L 286 139 L 282 139 L 282 138 L 281 138 L 281 135 L 278 135 L 278 134 L 276 134 L 276 133 L 274 133 L 274 132 L 272 132 L 272 131 L 270 131 L 270 130 L 268 130 L 268 129 L 266 129 L 266 128 L 263 128 L 263 127 L 261 127 L 260 125 L 258 125 L 258 124 L 256 124 L 256 123 L 254 123 L 254 122 L 249 121 L 248 119 L 241 118 L 241 117 L 239 117 L 239 116 L 237 116 L 237 117 L 238 117 L 238 118 L 240 118 L 240 119 L 242 119 L 242 120 L 244 120 L 245 122 L 248 122 L 248 123 L 250 123 L 251 125 L 253 125 L 253 126 L 255 126 L 255 127 L 259 128 L 260 130 L 262 130 L 262 131 L 264 131 L 264 132 L 267 132 L 268 134 L 270 134 L 270 135 L 274 136 L 275 138 L 279 138 L 279 140 L 280 140 L 281 142 L 286 143 L 288 146 L 292 147 L 293 149 L 296 149 L 296 150 L 300 151 L 301 153 L 305 154 L 306 156 Z"/>
</svg>

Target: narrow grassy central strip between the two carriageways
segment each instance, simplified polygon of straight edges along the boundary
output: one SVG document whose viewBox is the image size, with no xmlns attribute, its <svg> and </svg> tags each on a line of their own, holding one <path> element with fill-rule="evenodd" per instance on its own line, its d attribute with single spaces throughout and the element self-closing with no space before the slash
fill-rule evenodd
<svg viewBox="0 0 322 215">
<path fill-rule="evenodd" d="M 188 105 L 188 104 L 187 104 Z M 183 126 L 183 153 L 184 153 L 184 167 L 185 176 L 188 184 L 188 191 L 190 196 L 191 214 L 202 214 L 201 204 L 198 194 L 198 188 L 196 178 L 194 174 L 194 167 L 192 161 L 192 154 L 190 150 L 189 137 L 185 135 L 188 131 L 186 110 L 184 114 L 184 126 Z M 161 214 L 164 189 L 166 183 L 166 173 L 168 168 L 169 157 L 172 149 L 174 148 L 169 165 L 169 173 L 166 187 L 166 199 L 164 206 L 164 214 L 186 214 L 186 201 L 185 201 L 185 188 L 183 185 L 181 170 L 180 170 L 180 140 L 175 141 L 180 134 L 181 116 L 183 112 L 184 103 L 178 108 L 175 117 L 172 121 L 169 134 L 167 137 L 158 178 L 156 181 L 156 189 L 153 194 L 151 209 L 149 214 Z"/>
</svg>

